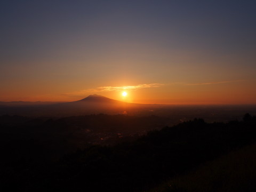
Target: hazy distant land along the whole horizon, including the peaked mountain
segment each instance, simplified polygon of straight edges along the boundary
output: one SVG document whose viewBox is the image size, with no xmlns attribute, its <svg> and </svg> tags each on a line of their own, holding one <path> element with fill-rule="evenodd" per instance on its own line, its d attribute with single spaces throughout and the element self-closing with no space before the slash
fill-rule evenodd
<svg viewBox="0 0 256 192">
<path fill-rule="evenodd" d="M 153 105 L 118 101 L 102 95 L 72 102 L 0 102 L 0 115 L 67 117 L 91 114 L 128 114 L 139 116 L 168 116 L 179 121 L 202 117 L 206 120 L 225 121 L 236 119 L 241 114 L 256 114 L 256 106 L 195 106 L 195 105 Z"/>
</svg>

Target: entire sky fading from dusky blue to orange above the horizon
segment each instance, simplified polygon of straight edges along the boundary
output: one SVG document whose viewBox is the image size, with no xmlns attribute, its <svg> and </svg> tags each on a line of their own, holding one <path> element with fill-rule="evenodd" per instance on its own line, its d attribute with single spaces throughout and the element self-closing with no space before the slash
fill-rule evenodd
<svg viewBox="0 0 256 192">
<path fill-rule="evenodd" d="M 256 1 L 1 1 L 0 100 L 256 103 Z M 128 95 L 122 98 L 122 90 Z"/>
</svg>

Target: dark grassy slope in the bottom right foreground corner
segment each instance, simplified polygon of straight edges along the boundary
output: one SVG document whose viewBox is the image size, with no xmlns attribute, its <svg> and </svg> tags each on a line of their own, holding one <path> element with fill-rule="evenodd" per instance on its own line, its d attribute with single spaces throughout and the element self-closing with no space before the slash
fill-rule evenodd
<svg viewBox="0 0 256 192">
<path fill-rule="evenodd" d="M 152 191 L 256 191 L 256 144 L 207 162 Z"/>
</svg>

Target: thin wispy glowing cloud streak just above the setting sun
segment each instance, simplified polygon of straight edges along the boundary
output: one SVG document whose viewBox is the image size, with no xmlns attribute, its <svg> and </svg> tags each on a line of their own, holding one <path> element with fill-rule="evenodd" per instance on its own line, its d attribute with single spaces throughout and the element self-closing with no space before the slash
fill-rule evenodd
<svg viewBox="0 0 256 192">
<path fill-rule="evenodd" d="M 150 87 L 160 87 L 164 84 L 161 83 L 151 83 L 151 84 L 139 84 L 139 85 L 125 85 L 125 86 L 101 86 L 95 89 L 86 89 L 72 93 L 66 93 L 63 95 L 82 95 L 86 93 L 95 93 L 95 92 L 103 92 L 103 91 L 122 91 L 122 90 L 139 90 Z"/>
</svg>

